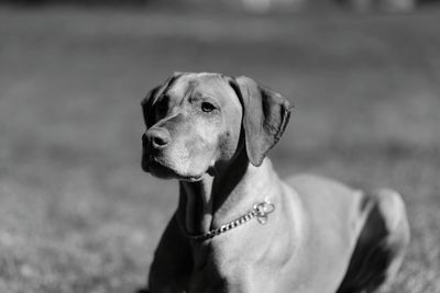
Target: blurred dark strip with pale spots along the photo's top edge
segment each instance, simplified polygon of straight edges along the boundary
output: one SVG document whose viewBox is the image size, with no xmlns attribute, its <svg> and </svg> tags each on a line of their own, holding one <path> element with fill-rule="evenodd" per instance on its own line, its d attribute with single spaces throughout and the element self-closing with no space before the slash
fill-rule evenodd
<svg viewBox="0 0 440 293">
<path fill-rule="evenodd" d="M 343 5 L 358 11 L 410 11 L 418 5 L 440 3 L 440 0 L 0 0 L 11 4 L 79 4 L 79 5 L 223 5 L 232 9 L 244 9 L 252 12 L 271 10 L 300 10 L 305 8 Z"/>
</svg>

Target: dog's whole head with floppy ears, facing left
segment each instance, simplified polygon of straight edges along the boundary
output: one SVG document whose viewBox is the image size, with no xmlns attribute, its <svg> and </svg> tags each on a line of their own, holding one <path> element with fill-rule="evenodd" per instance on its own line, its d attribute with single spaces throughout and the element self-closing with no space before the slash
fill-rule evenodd
<svg viewBox="0 0 440 293">
<path fill-rule="evenodd" d="M 241 149 L 260 166 L 289 119 L 280 94 L 246 77 L 206 72 L 174 74 L 148 92 L 142 109 L 142 168 L 187 181 L 200 180 Z"/>
</svg>

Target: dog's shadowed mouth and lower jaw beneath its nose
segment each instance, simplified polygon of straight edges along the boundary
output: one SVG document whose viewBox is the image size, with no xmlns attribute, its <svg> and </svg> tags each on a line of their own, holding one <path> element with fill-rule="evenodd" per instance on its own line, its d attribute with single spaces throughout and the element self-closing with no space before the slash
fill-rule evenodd
<svg viewBox="0 0 440 293">
<path fill-rule="evenodd" d="M 169 166 L 163 159 L 155 156 L 146 156 L 142 159 L 142 169 L 157 178 L 162 179 L 177 179 L 180 181 L 197 182 L 200 181 L 206 172 L 200 174 L 185 174 L 176 171 L 175 168 Z"/>
</svg>

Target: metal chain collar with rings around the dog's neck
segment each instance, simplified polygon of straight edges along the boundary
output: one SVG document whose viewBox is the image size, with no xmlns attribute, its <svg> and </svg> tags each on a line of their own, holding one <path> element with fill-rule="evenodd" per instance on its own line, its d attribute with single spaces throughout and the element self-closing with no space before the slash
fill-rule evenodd
<svg viewBox="0 0 440 293">
<path fill-rule="evenodd" d="M 245 215 L 242 215 L 241 217 L 234 221 L 223 224 L 219 228 L 208 230 L 207 233 L 194 235 L 186 233 L 184 227 L 182 228 L 185 232 L 186 237 L 188 237 L 189 239 L 197 241 L 205 241 L 216 237 L 219 234 L 222 234 L 240 225 L 243 225 L 244 223 L 251 221 L 254 217 L 256 217 L 260 224 L 265 225 L 267 223 L 267 215 L 274 211 L 275 211 L 275 205 L 271 203 L 267 199 L 265 199 L 264 202 L 254 204 L 253 209 Z"/>
</svg>

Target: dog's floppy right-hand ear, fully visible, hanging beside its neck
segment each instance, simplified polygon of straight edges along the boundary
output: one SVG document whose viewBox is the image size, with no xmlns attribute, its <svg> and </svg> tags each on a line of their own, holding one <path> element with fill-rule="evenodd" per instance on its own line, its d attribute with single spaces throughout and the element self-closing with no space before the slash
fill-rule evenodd
<svg viewBox="0 0 440 293">
<path fill-rule="evenodd" d="M 290 117 L 290 104 L 279 93 L 248 77 L 232 79 L 230 84 L 243 105 L 242 123 L 249 160 L 258 167 L 282 137 Z"/>
</svg>

